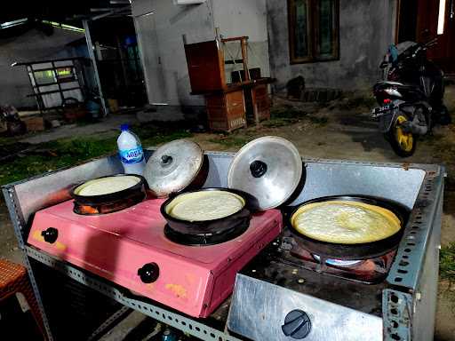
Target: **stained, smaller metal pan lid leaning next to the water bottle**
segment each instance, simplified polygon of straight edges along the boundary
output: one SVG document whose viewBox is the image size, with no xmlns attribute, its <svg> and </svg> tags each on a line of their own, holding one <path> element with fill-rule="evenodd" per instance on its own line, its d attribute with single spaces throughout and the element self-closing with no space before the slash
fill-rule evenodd
<svg viewBox="0 0 455 341">
<path fill-rule="evenodd" d="M 196 178 L 204 152 L 196 142 L 176 139 L 156 149 L 144 171 L 148 187 L 157 197 L 179 192 Z"/>
</svg>

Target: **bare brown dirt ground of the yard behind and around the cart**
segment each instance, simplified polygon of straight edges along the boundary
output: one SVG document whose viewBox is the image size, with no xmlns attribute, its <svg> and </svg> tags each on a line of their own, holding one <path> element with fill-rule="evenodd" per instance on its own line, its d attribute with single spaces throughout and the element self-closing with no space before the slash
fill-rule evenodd
<svg viewBox="0 0 455 341">
<path fill-rule="evenodd" d="M 329 107 L 301 105 L 285 99 L 275 99 L 274 104 L 297 107 L 301 111 L 311 113 L 312 119 L 303 117 L 290 124 L 278 122 L 268 126 L 251 127 L 228 136 L 199 133 L 192 139 L 205 150 L 236 151 L 243 143 L 254 137 L 276 135 L 290 139 L 298 147 L 301 155 L 309 157 L 373 162 L 444 163 L 447 166 L 449 178 L 444 198 L 442 243 L 446 245 L 449 242 L 455 242 L 455 125 L 437 127 L 434 136 L 419 140 L 415 155 L 403 159 L 394 154 L 387 141 L 379 134 L 377 123 L 371 122 L 370 107 L 362 104 L 349 107 L 342 100 Z M 455 114 L 455 87 L 453 86 L 447 90 L 446 104 L 451 108 L 452 114 Z M 107 131 L 112 125 L 108 127 Z M 97 132 L 99 128 L 97 127 Z M 62 134 L 63 132 L 54 133 L 59 138 Z M 44 139 L 48 137 L 49 134 Z M 33 143 L 33 140 L 28 141 Z M 0 257 L 20 259 L 11 224 L 3 206 L 0 206 L 0 224 Z M 436 316 L 437 340 L 455 340 L 454 297 L 455 291 L 448 289 L 446 283 L 442 283 Z"/>
</svg>

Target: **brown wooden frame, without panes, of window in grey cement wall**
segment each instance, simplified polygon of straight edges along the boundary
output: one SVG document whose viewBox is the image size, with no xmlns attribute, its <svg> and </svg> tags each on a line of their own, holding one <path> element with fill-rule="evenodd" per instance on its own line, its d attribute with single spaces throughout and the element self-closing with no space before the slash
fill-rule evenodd
<svg viewBox="0 0 455 341">
<path fill-rule="evenodd" d="M 335 15 L 332 29 L 332 50 L 331 56 L 318 56 L 317 49 L 319 45 L 319 16 L 318 14 L 318 0 L 307 1 L 307 50 L 306 57 L 295 57 L 295 2 L 298 0 L 287 0 L 288 6 L 288 43 L 289 43 L 289 60 L 291 64 L 305 64 L 323 61 L 339 60 L 339 0 L 335 2 Z"/>
</svg>

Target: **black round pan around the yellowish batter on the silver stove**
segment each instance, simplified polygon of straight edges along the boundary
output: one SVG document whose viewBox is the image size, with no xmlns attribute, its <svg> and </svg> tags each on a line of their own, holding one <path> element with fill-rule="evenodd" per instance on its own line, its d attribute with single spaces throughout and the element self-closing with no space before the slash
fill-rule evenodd
<svg viewBox="0 0 455 341">
<path fill-rule="evenodd" d="M 327 201 L 351 201 L 351 202 L 364 202 L 371 205 L 379 206 L 387 210 L 391 210 L 395 213 L 395 216 L 401 221 L 401 228 L 395 234 L 382 239 L 377 242 L 364 242 L 358 244 L 341 244 L 334 242 L 321 242 L 315 239 L 309 238 L 303 234 L 299 234 L 293 226 L 291 226 L 292 215 L 299 210 L 301 206 L 307 205 L 313 202 L 327 202 Z M 410 211 L 404 207 L 401 203 L 393 202 L 387 199 L 368 196 L 368 195 L 333 195 L 324 196 L 316 199 L 302 202 L 298 206 L 289 208 L 284 212 L 286 216 L 286 222 L 289 226 L 292 234 L 295 236 L 295 241 L 303 248 L 307 249 L 311 253 L 321 256 L 323 258 L 335 258 L 335 259 L 368 259 L 376 258 L 385 255 L 391 250 L 395 250 L 403 236 L 404 226 L 409 218 Z"/>
</svg>

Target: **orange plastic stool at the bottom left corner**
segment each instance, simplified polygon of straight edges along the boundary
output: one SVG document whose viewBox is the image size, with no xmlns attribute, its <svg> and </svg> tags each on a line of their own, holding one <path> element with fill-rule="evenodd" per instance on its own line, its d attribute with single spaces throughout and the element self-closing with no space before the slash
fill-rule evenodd
<svg viewBox="0 0 455 341">
<path fill-rule="evenodd" d="M 0 258 L 0 301 L 18 292 L 26 298 L 36 324 L 41 334 L 43 334 L 44 340 L 47 339 L 44 332 L 43 318 L 39 311 L 33 289 L 28 281 L 27 269 L 25 266 Z"/>
</svg>

